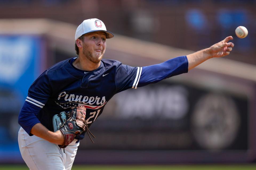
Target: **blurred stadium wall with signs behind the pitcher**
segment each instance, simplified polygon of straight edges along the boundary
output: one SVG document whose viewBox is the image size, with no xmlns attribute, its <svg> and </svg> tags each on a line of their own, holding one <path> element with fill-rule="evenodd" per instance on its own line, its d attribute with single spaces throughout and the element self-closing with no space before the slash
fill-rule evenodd
<svg viewBox="0 0 256 170">
<path fill-rule="evenodd" d="M 131 66 L 229 35 L 235 47 L 187 74 L 114 96 L 90 128 L 95 144 L 82 140 L 75 163 L 255 162 L 255 7 L 253 0 L 0 0 L 0 114 L 11 117 L 0 120 L 0 162 L 23 163 L 17 117 L 27 90 L 46 68 L 75 56 L 75 30 L 89 18 L 115 34 L 104 57 Z M 240 25 L 249 31 L 244 39 L 235 36 Z"/>
</svg>

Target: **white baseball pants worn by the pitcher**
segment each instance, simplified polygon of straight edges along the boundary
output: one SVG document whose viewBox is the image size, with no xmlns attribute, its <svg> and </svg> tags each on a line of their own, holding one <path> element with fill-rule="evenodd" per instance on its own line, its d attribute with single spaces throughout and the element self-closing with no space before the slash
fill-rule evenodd
<svg viewBox="0 0 256 170">
<path fill-rule="evenodd" d="M 35 135 L 29 136 L 23 128 L 19 129 L 18 143 L 21 156 L 31 170 L 69 170 L 71 169 L 79 142 L 63 149 Z"/>
</svg>

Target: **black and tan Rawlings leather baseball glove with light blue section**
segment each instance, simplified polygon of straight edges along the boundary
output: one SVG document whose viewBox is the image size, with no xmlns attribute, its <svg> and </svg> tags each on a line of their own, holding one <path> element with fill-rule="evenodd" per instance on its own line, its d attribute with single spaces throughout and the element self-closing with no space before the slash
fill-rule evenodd
<svg viewBox="0 0 256 170">
<path fill-rule="evenodd" d="M 75 135 L 80 135 L 85 130 L 88 135 L 90 133 L 94 137 L 88 129 L 85 116 L 86 108 L 83 106 L 73 107 L 67 113 L 61 112 L 53 116 L 54 131 L 60 130 L 64 135 L 64 143 L 63 145 L 59 145 L 60 148 L 67 147 L 74 140 Z M 90 135 L 89 137 L 91 139 Z M 93 142 L 92 139 L 91 141 Z"/>
</svg>

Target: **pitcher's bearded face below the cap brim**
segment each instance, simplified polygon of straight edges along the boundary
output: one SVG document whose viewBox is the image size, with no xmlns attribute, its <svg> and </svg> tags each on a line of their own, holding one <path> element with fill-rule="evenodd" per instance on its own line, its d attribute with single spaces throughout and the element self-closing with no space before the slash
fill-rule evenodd
<svg viewBox="0 0 256 170">
<path fill-rule="evenodd" d="M 83 37 L 83 54 L 93 63 L 99 63 L 106 50 L 106 33 L 93 32 Z"/>
</svg>

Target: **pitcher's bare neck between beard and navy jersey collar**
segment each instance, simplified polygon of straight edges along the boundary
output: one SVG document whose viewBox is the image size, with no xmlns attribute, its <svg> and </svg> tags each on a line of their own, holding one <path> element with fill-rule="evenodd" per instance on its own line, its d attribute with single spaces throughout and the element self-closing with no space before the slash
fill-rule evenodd
<svg viewBox="0 0 256 170">
<path fill-rule="evenodd" d="M 98 63 L 91 62 L 85 56 L 79 55 L 78 58 L 73 62 L 73 66 L 79 70 L 83 71 L 93 71 L 101 65 L 101 62 Z"/>
</svg>

